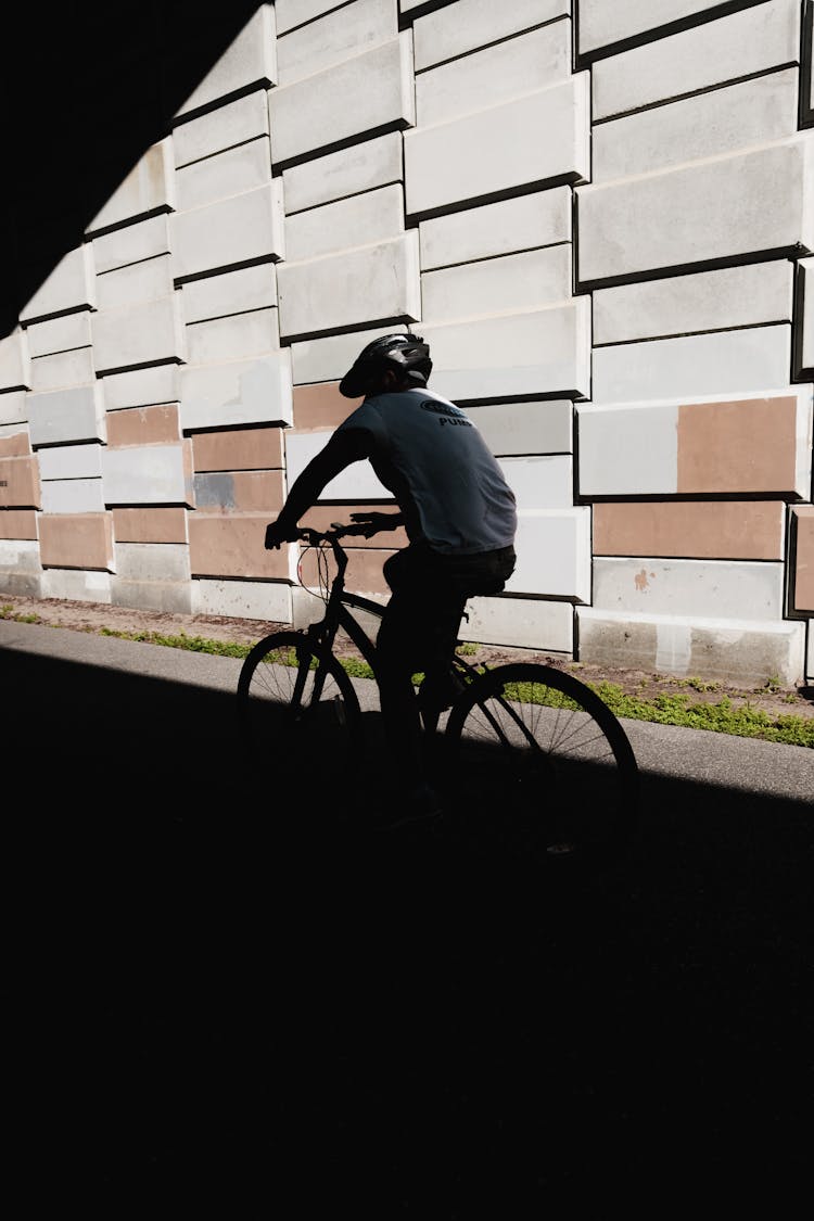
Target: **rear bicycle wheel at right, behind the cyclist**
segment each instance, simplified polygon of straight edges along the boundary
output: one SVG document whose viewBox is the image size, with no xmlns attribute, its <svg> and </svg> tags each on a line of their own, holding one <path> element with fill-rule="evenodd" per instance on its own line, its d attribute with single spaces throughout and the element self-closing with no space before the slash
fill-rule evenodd
<svg viewBox="0 0 814 1221">
<path fill-rule="evenodd" d="M 638 818 L 627 735 L 586 684 L 537 662 L 499 665 L 455 701 L 444 745 L 471 821 L 524 852 L 613 855 Z M 471 799 L 471 800 L 470 800 Z M 494 817 L 497 812 L 497 818 Z"/>
</svg>

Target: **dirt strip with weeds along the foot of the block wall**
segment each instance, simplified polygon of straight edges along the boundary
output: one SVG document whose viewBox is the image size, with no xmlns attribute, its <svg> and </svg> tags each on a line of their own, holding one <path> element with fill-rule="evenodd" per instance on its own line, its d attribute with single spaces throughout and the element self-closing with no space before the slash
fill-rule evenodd
<svg viewBox="0 0 814 1221">
<path fill-rule="evenodd" d="M 138 610 L 99 602 L 73 602 L 60 598 L 26 598 L 0 593 L 0 615 L 6 619 L 32 617 L 32 621 L 72 631 L 99 632 L 106 628 L 122 632 L 156 632 L 161 636 L 201 636 L 227 643 L 253 645 L 261 636 L 288 629 L 266 619 L 233 619 L 226 615 L 167 614 L 160 610 Z M 337 652 L 356 656 L 348 640 L 337 641 Z M 613 683 L 626 695 L 653 700 L 658 695 L 685 694 L 692 703 L 719 703 L 727 697 L 733 707 L 749 705 L 762 708 L 769 717 L 814 717 L 814 687 L 737 687 L 725 683 L 703 683 L 696 678 L 677 678 L 646 670 L 620 669 L 588 662 L 571 662 L 548 653 L 525 648 L 503 648 L 481 645 L 467 661 L 493 665 L 515 661 L 542 661 L 575 674 L 587 683 Z"/>
</svg>

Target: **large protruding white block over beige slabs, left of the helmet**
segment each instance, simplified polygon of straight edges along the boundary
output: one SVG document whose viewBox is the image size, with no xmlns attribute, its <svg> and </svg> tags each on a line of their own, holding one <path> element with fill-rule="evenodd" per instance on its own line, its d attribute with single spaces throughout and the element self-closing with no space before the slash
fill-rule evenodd
<svg viewBox="0 0 814 1221">
<path fill-rule="evenodd" d="M 293 422 L 288 349 L 254 360 L 183 368 L 179 380 L 183 431 Z"/>
</svg>

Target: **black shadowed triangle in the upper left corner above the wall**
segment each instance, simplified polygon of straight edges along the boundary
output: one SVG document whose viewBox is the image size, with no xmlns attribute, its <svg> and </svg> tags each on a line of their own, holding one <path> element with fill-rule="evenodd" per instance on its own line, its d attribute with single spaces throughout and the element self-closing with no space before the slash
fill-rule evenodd
<svg viewBox="0 0 814 1221">
<path fill-rule="evenodd" d="M 0 74 L 0 336 L 259 7 L 17 5 Z"/>
</svg>

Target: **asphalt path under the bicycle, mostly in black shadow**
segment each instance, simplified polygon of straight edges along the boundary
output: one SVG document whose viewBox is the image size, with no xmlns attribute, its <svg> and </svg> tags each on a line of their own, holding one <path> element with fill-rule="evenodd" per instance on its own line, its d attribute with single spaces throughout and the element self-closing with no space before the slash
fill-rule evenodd
<svg viewBox="0 0 814 1221">
<path fill-rule="evenodd" d="M 630 724 L 636 841 L 544 868 L 251 757 L 238 665 L 0 623 L 26 1215 L 797 1206 L 814 752 Z"/>
</svg>

